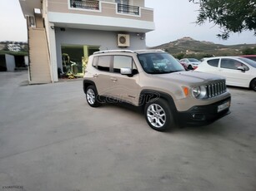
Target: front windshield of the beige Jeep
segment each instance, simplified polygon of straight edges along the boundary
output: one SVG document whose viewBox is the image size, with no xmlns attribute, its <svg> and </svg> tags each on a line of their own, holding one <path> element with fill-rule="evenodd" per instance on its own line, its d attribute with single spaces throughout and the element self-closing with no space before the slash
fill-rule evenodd
<svg viewBox="0 0 256 191">
<path fill-rule="evenodd" d="M 143 70 L 148 74 L 166 74 L 175 71 L 185 71 L 183 66 L 166 52 L 138 54 Z"/>
</svg>

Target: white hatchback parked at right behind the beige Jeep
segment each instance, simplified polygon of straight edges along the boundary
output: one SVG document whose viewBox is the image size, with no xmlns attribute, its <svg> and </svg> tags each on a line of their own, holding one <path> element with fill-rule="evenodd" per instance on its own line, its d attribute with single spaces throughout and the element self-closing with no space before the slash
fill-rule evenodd
<svg viewBox="0 0 256 191">
<path fill-rule="evenodd" d="M 224 76 L 229 86 L 251 88 L 256 91 L 256 62 L 240 56 L 205 58 L 195 71 Z"/>
</svg>

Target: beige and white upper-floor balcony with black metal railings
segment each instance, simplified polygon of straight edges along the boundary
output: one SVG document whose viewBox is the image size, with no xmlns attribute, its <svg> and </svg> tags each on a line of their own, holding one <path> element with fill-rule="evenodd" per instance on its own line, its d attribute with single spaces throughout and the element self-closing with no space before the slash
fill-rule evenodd
<svg viewBox="0 0 256 191">
<path fill-rule="evenodd" d="M 150 32 L 153 9 L 96 0 L 48 2 L 48 21 L 56 27 L 89 30 Z"/>
</svg>

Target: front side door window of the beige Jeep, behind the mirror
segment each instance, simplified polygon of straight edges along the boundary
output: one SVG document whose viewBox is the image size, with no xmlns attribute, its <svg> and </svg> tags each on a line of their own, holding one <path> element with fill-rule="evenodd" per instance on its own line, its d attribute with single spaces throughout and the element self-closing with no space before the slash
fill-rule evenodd
<svg viewBox="0 0 256 191">
<path fill-rule="evenodd" d="M 113 57 L 113 72 L 120 73 L 120 69 L 123 67 L 132 68 L 133 72 L 134 72 L 134 70 L 137 71 L 137 68 L 133 62 L 133 57 L 131 57 L 131 56 L 114 56 Z"/>
</svg>

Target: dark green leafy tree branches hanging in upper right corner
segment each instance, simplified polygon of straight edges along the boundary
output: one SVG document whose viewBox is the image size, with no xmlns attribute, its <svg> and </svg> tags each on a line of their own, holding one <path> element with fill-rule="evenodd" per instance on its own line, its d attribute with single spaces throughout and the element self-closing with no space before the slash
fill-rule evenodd
<svg viewBox="0 0 256 191">
<path fill-rule="evenodd" d="M 256 0 L 189 0 L 199 4 L 196 23 L 213 22 L 223 31 L 224 40 L 230 32 L 253 31 L 256 35 Z"/>
</svg>

